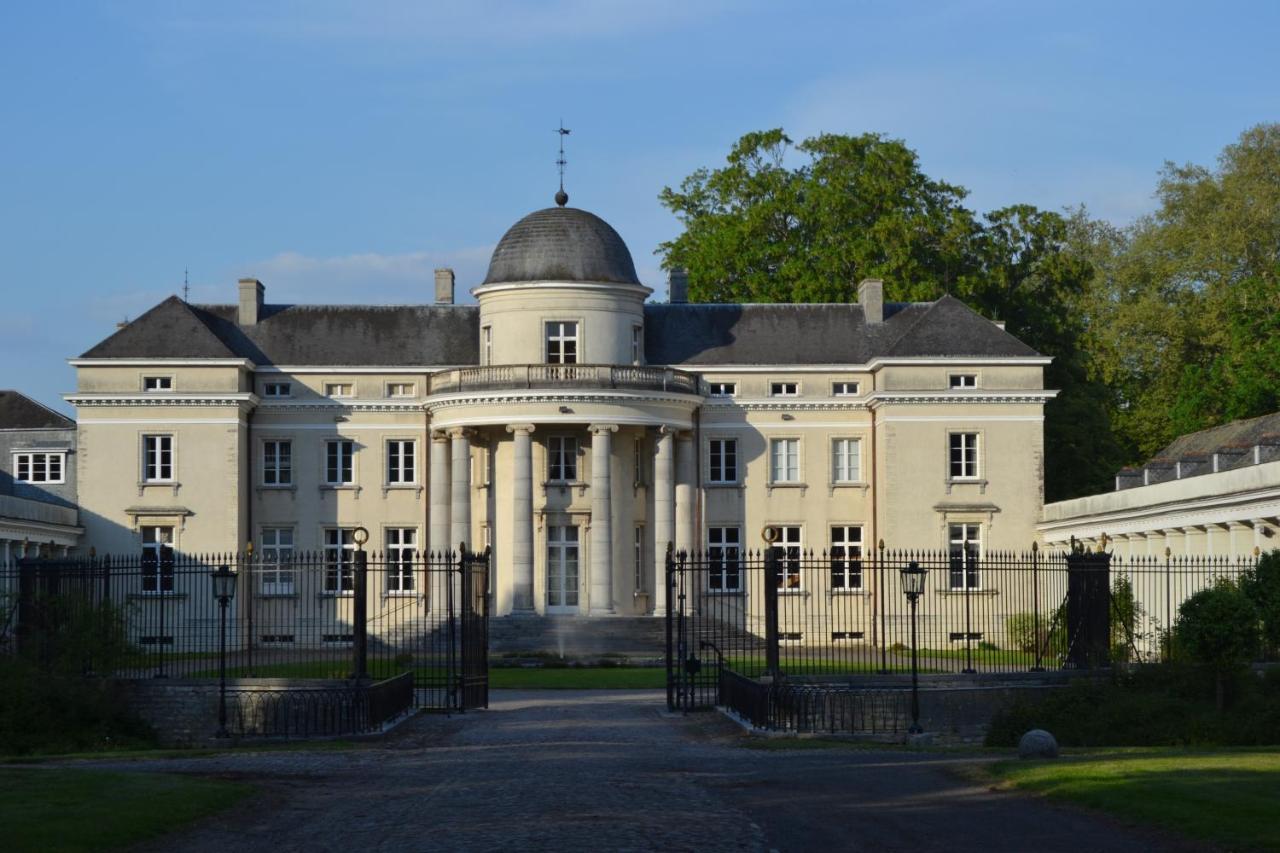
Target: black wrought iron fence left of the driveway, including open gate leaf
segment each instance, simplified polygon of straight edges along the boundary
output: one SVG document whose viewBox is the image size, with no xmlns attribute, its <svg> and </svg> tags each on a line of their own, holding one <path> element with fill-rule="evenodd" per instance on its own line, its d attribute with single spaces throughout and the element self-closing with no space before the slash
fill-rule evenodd
<svg viewBox="0 0 1280 853">
<path fill-rule="evenodd" d="M 23 561 L 0 570 L 0 648 L 49 669 L 218 678 L 225 606 L 232 678 L 388 679 L 416 703 L 488 703 L 488 553 L 161 552 Z"/>
</svg>

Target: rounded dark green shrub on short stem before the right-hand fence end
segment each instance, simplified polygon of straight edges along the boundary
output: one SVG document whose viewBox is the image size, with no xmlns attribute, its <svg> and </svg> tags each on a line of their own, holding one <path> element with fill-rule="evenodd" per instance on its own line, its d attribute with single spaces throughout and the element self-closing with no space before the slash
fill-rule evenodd
<svg viewBox="0 0 1280 853">
<path fill-rule="evenodd" d="M 1258 651 L 1258 610 L 1240 588 L 1219 579 L 1178 608 L 1174 642 L 1192 661 L 1217 678 L 1217 710 L 1225 704 L 1226 676 Z"/>
</svg>

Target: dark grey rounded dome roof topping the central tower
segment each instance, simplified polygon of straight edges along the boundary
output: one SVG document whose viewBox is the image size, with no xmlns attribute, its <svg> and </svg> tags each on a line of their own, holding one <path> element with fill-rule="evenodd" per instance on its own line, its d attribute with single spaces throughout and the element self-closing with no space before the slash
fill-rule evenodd
<svg viewBox="0 0 1280 853">
<path fill-rule="evenodd" d="M 577 207 L 536 210 L 502 236 L 484 283 L 504 282 L 640 283 L 618 232 Z"/>
</svg>

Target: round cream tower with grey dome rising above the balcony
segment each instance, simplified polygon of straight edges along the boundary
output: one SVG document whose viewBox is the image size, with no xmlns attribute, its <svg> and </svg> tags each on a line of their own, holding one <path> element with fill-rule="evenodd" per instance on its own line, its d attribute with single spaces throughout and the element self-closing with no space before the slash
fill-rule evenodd
<svg viewBox="0 0 1280 853">
<path fill-rule="evenodd" d="M 567 196 L 557 195 L 557 201 Z M 529 214 L 503 234 L 480 304 L 480 361 L 644 364 L 644 301 L 627 245 L 577 207 Z"/>
</svg>

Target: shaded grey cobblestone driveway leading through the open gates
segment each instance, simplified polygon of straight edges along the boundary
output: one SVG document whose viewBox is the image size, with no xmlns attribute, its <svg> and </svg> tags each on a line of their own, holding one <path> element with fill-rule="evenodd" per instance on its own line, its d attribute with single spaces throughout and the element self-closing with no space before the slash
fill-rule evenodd
<svg viewBox="0 0 1280 853">
<path fill-rule="evenodd" d="M 251 804 L 148 849 L 1149 850 L 1138 834 L 960 781 L 943 753 L 748 749 L 654 692 L 497 692 L 351 751 L 95 767 L 251 779 Z M 1193 848 L 1181 848 L 1193 849 Z"/>
</svg>

